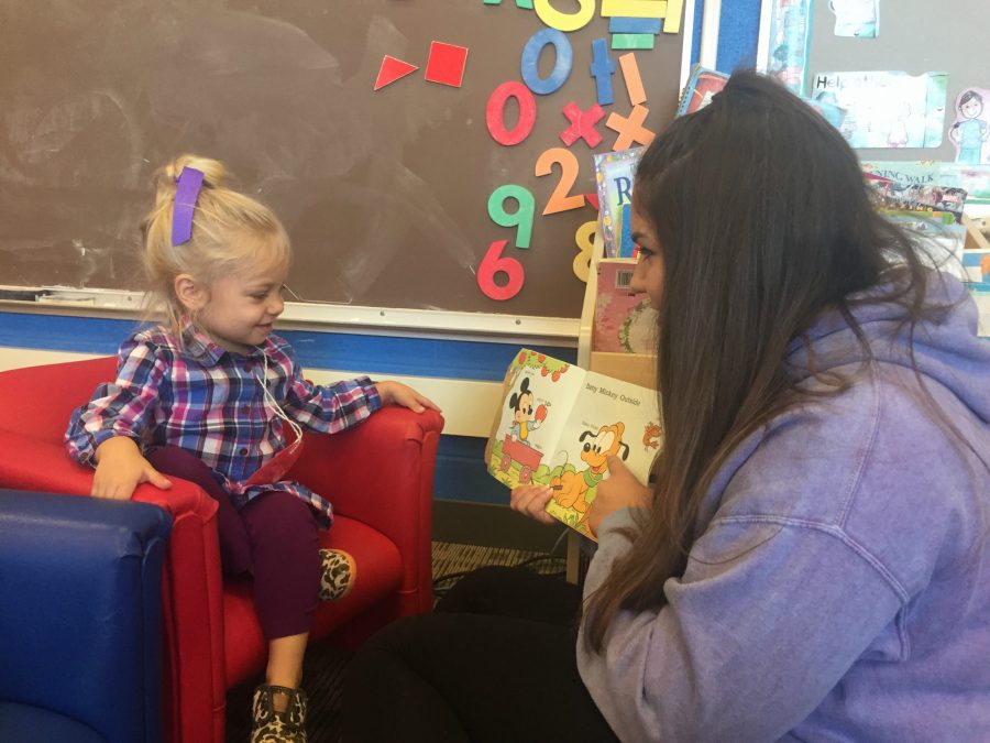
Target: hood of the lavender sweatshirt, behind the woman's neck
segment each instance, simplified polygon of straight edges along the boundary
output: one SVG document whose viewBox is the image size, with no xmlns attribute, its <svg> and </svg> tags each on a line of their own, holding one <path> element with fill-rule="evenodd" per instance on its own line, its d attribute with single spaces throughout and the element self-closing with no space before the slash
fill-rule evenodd
<svg viewBox="0 0 990 743">
<path fill-rule="evenodd" d="M 883 297 L 890 284 L 850 298 L 853 316 L 869 343 L 873 360 L 917 371 L 956 395 L 985 424 L 990 423 L 990 339 L 977 337 L 976 303 L 957 278 L 946 273 L 926 272 L 925 304 L 928 317 L 914 327 L 914 361 L 908 343 L 911 334 L 908 310 Z M 792 342 L 788 361 L 801 381 L 807 371 L 807 345 L 814 350 L 814 368 L 820 372 L 858 365 L 867 353 L 853 328 L 838 310 L 823 315 L 804 338 Z"/>
</svg>

